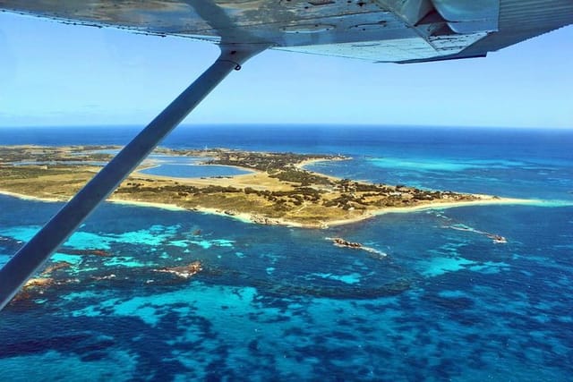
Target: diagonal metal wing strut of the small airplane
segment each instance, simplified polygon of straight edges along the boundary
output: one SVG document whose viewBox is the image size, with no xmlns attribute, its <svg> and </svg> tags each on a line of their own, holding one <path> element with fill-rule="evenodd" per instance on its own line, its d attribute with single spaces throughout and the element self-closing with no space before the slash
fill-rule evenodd
<svg viewBox="0 0 573 382">
<path fill-rule="evenodd" d="M 90 213 L 104 201 L 169 132 L 215 89 L 229 72 L 266 46 L 222 46 L 218 60 L 147 125 L 62 209 L 0 268 L 0 310 L 38 272 Z"/>
</svg>

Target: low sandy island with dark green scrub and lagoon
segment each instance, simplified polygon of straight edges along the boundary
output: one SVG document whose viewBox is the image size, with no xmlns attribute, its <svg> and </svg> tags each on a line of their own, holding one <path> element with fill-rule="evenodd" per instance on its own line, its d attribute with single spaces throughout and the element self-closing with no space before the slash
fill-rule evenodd
<svg viewBox="0 0 573 382">
<path fill-rule="evenodd" d="M 70 199 L 119 149 L 0 147 L 0 192 L 21 198 Z M 263 225 L 309 228 L 353 223 L 388 212 L 522 201 L 422 190 L 405 184 L 367 183 L 304 168 L 317 161 L 352 159 L 340 155 L 235 149 L 156 149 L 154 153 L 162 157 L 201 158 L 201 166 L 234 166 L 248 174 L 175 178 L 141 173 L 160 165 L 158 159 L 151 157 L 121 183 L 110 201 L 183 208 Z"/>
</svg>

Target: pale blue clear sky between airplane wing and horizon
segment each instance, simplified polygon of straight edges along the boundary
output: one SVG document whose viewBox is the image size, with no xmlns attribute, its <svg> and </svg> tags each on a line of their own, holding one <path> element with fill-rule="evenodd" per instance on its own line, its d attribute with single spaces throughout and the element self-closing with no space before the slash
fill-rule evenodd
<svg viewBox="0 0 573 382">
<path fill-rule="evenodd" d="M 0 13 L 0 126 L 148 123 L 218 55 L 158 38 Z M 185 123 L 573 128 L 573 27 L 430 64 L 268 51 Z"/>
</svg>

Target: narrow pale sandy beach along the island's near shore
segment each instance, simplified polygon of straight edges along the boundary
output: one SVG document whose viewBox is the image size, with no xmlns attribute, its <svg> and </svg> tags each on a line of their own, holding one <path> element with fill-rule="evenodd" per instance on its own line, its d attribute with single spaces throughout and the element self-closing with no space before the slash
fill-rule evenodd
<svg viewBox="0 0 573 382">
<path fill-rule="evenodd" d="M 5 195 L 13 198 L 23 199 L 23 200 L 33 200 L 42 202 L 65 202 L 65 199 L 54 199 L 54 198 L 40 198 L 30 195 L 24 195 L 17 192 L 3 191 L 0 190 L 0 195 Z M 261 224 L 261 225 L 281 225 L 297 228 L 312 228 L 312 229 L 326 229 L 333 226 L 339 225 L 350 225 L 354 223 L 359 223 L 363 220 L 370 219 L 372 217 L 386 215 L 386 214 L 406 214 L 410 212 L 420 212 L 424 210 L 431 209 L 447 209 L 447 208 L 459 208 L 459 207 L 470 207 L 470 206 L 493 206 L 493 205 L 536 205 L 543 207 L 543 204 L 549 204 L 551 201 L 543 199 L 518 199 L 518 198 L 501 198 L 501 197 L 491 197 L 485 195 L 476 195 L 483 199 L 477 200 L 466 200 L 466 201 L 450 201 L 450 202 L 433 202 L 418 206 L 408 206 L 408 207 L 389 207 L 380 208 L 369 211 L 362 216 L 354 216 L 349 218 L 334 219 L 330 221 L 323 221 L 320 224 L 304 224 L 295 221 L 289 221 L 282 218 L 266 217 L 259 214 L 252 214 L 248 212 L 237 212 L 237 211 L 226 211 L 219 208 L 184 208 L 177 206 L 176 204 L 160 203 L 160 202 L 149 202 L 149 201 L 139 201 L 139 200 L 129 200 L 129 199 L 106 199 L 108 203 L 114 203 L 124 206 L 134 206 L 143 208 L 160 208 L 169 211 L 189 211 L 189 212 L 199 212 L 202 214 L 210 214 L 217 216 L 226 216 L 233 218 L 245 224 Z M 264 222 L 264 223 L 261 223 Z"/>
</svg>

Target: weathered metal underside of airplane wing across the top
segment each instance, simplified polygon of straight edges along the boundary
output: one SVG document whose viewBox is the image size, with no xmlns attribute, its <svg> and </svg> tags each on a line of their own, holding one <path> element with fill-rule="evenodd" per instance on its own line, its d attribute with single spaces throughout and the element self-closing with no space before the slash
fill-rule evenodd
<svg viewBox="0 0 573 382">
<path fill-rule="evenodd" d="M 0 10 L 398 63 L 483 56 L 573 23 L 571 0 L 0 0 Z"/>
</svg>

